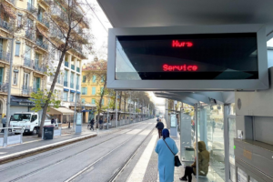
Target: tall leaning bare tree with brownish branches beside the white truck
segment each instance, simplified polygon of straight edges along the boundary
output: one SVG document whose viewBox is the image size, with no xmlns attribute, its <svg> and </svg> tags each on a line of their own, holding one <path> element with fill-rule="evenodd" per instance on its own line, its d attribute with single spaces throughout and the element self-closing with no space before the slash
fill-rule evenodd
<svg viewBox="0 0 273 182">
<path fill-rule="evenodd" d="M 44 93 L 44 100 L 42 103 L 35 103 L 43 105 L 43 114 L 41 118 L 41 128 L 45 123 L 45 114 L 52 99 L 55 99 L 54 90 L 56 81 L 60 73 L 61 66 L 66 54 L 69 52 L 81 59 L 86 59 L 87 54 L 92 53 L 93 36 L 86 30 L 89 28 L 86 14 L 84 13 L 82 6 L 84 4 L 80 0 L 60 0 L 48 2 L 50 9 L 43 12 L 42 23 L 50 27 L 49 33 L 45 32 L 38 26 L 35 27 L 35 31 L 38 35 L 43 36 L 43 40 L 40 40 L 40 46 L 49 45 L 50 52 L 59 52 L 58 63 L 56 66 L 47 66 L 47 75 L 53 76 L 52 85 L 50 89 Z M 36 11 L 36 10 L 34 10 Z M 33 25 L 29 25 L 31 29 L 28 29 L 30 35 Z M 27 32 L 26 31 L 26 32 Z M 86 52 L 86 53 L 85 53 Z M 48 59 L 48 57 L 46 57 Z M 36 93 L 37 95 L 43 95 L 43 93 Z M 41 96 L 42 97 L 42 96 Z M 40 129 L 39 135 L 42 136 L 42 130 Z"/>
</svg>

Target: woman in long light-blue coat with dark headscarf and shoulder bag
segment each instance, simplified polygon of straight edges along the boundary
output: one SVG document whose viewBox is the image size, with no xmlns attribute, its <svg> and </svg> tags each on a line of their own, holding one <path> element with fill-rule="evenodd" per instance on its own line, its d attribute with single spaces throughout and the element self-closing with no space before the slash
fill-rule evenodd
<svg viewBox="0 0 273 182">
<path fill-rule="evenodd" d="M 157 141 L 156 152 L 158 154 L 158 171 L 160 182 L 173 182 L 175 172 L 175 156 L 178 153 L 176 142 L 169 137 L 168 129 L 162 130 L 163 139 Z M 167 145 L 166 145 L 166 143 Z M 173 151 L 169 150 L 168 147 Z"/>
</svg>

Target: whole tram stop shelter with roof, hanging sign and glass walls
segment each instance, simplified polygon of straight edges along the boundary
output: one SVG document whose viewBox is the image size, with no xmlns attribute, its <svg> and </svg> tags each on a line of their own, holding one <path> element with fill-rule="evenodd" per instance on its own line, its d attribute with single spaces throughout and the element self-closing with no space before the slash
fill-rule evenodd
<svg viewBox="0 0 273 182">
<path fill-rule="evenodd" d="M 209 172 L 197 181 L 273 181 L 273 1 L 97 2 L 114 27 L 107 87 L 194 107 L 193 118 L 179 113 L 180 151 L 187 163 L 186 144 L 206 143 Z"/>
</svg>

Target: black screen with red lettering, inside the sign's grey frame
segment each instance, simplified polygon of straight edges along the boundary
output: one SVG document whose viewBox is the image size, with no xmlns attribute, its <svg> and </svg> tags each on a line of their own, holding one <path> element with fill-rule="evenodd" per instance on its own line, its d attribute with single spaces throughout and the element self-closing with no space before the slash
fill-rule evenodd
<svg viewBox="0 0 273 182">
<path fill-rule="evenodd" d="M 258 79 L 257 34 L 118 35 L 116 80 Z"/>
</svg>

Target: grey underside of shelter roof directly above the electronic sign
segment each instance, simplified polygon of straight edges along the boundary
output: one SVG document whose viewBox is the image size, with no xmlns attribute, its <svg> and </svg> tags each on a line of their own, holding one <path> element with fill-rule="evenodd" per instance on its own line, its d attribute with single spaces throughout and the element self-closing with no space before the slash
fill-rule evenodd
<svg viewBox="0 0 273 182">
<path fill-rule="evenodd" d="M 273 35 L 272 0 L 97 0 L 113 27 L 267 25 Z"/>
</svg>

